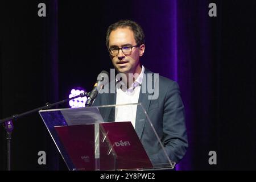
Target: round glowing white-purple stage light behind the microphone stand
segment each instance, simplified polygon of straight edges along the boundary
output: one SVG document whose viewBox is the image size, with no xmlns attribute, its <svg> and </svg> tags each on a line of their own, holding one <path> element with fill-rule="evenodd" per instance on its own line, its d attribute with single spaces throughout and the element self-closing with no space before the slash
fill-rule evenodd
<svg viewBox="0 0 256 182">
<path fill-rule="evenodd" d="M 68 98 L 78 96 L 80 93 L 84 93 L 84 92 L 85 92 L 84 89 L 72 89 Z M 86 100 L 87 100 L 87 97 L 82 97 L 82 98 L 77 97 L 69 101 L 69 106 L 71 106 L 71 108 L 85 107 Z"/>
</svg>

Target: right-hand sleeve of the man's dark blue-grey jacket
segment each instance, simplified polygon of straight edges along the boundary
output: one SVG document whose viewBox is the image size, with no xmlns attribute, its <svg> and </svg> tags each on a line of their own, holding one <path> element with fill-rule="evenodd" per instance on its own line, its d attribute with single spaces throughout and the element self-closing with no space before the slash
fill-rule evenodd
<svg viewBox="0 0 256 182">
<path fill-rule="evenodd" d="M 179 85 L 172 82 L 168 86 L 164 98 L 163 109 L 163 146 L 172 162 L 178 163 L 188 148 L 187 131 L 185 127 L 184 105 L 180 97 Z M 165 152 L 151 156 L 152 163 L 166 162 Z"/>
</svg>

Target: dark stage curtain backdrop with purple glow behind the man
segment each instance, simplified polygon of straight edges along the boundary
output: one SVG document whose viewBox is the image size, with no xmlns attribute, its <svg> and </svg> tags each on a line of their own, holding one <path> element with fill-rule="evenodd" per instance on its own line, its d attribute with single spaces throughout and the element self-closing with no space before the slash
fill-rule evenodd
<svg viewBox="0 0 256 182">
<path fill-rule="evenodd" d="M 217 17 L 208 16 L 211 2 Z M 255 9 L 253 0 L 1 1 L 0 118 L 63 100 L 76 86 L 90 91 L 112 68 L 106 28 L 133 19 L 146 35 L 142 64 L 180 85 L 189 149 L 177 169 L 255 170 Z M 6 169 L 3 128 L 0 137 Z M 12 142 L 14 170 L 67 169 L 38 113 L 14 121 Z M 37 163 L 41 150 L 46 166 Z M 209 165 L 209 151 L 217 165 Z"/>
</svg>

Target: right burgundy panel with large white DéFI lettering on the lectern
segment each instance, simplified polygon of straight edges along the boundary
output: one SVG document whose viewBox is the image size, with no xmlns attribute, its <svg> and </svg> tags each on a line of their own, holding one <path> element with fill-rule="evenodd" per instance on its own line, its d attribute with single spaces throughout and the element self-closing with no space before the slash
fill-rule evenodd
<svg viewBox="0 0 256 182">
<path fill-rule="evenodd" d="M 152 168 L 151 161 L 131 122 L 100 123 L 100 130 L 103 134 L 100 136 L 101 170 L 111 170 L 113 166 L 115 169 Z M 106 138 L 103 142 L 105 135 Z M 109 151 L 109 147 L 112 147 L 112 152 L 108 156 L 106 151 Z M 113 164 L 114 158 L 115 164 Z M 108 162 L 108 159 L 112 161 Z"/>
</svg>

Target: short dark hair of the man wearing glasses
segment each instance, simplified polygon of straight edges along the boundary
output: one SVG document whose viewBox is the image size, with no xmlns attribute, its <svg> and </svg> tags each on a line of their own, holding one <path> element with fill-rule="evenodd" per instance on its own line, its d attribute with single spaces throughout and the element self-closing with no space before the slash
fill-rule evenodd
<svg viewBox="0 0 256 182">
<path fill-rule="evenodd" d="M 118 22 L 116 23 L 113 23 L 109 26 L 107 32 L 106 32 L 106 46 L 109 47 L 109 35 L 110 33 L 113 31 L 113 30 L 116 30 L 117 28 L 125 28 L 125 27 L 129 27 L 133 33 L 134 33 L 134 39 L 137 43 L 137 45 L 141 46 L 141 44 L 144 44 L 145 41 L 144 41 L 144 32 L 142 30 L 142 27 L 132 21 L 132 20 L 119 20 Z"/>
</svg>

